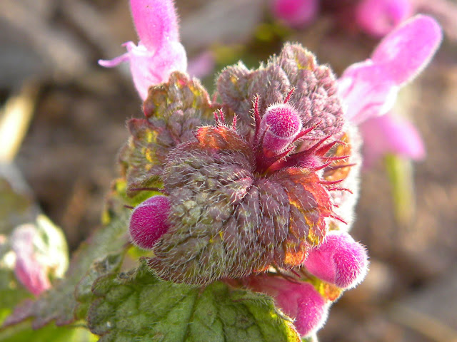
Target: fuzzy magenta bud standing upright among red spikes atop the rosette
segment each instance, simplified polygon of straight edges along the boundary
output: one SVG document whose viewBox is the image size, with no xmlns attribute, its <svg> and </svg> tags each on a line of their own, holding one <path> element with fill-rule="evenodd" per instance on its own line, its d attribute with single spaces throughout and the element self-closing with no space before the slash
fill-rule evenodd
<svg viewBox="0 0 457 342">
<path fill-rule="evenodd" d="M 301 132 L 300 114 L 288 103 L 276 103 L 266 108 L 261 120 L 263 149 L 282 152 Z"/>
</svg>

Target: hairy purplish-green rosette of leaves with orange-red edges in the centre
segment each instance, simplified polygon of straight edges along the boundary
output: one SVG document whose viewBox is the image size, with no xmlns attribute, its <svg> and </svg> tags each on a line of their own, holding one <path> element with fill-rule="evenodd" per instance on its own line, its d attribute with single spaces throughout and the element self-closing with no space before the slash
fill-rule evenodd
<svg viewBox="0 0 457 342">
<path fill-rule="evenodd" d="M 217 90 L 212 103 L 198 81 L 173 73 L 149 88 L 146 118 L 129 121 L 126 194 L 157 190 L 169 201 L 168 230 L 148 259 L 161 279 L 201 285 L 295 269 L 329 229 L 351 224 L 358 141 L 331 70 L 286 45 L 256 70 L 224 69 Z M 266 123 L 266 113 L 281 106 L 301 130 L 277 147 L 287 123 Z"/>
</svg>

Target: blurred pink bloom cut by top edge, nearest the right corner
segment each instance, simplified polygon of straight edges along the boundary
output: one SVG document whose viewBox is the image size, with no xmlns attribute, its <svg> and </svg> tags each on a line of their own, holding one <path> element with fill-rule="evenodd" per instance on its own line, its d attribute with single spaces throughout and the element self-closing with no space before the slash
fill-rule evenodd
<svg viewBox="0 0 457 342">
<path fill-rule="evenodd" d="M 363 0 L 356 6 L 356 22 L 366 33 L 385 36 L 413 14 L 411 0 Z"/>
</svg>

